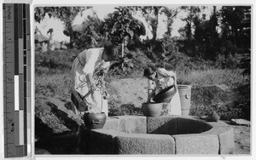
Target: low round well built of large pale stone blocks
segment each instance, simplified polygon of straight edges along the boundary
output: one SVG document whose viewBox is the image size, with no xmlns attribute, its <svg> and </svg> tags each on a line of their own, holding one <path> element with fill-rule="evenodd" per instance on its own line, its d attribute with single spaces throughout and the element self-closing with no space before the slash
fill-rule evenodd
<svg viewBox="0 0 256 160">
<path fill-rule="evenodd" d="M 225 155 L 234 150 L 234 130 L 198 117 L 108 117 L 103 129 L 83 129 L 84 154 Z"/>
</svg>

